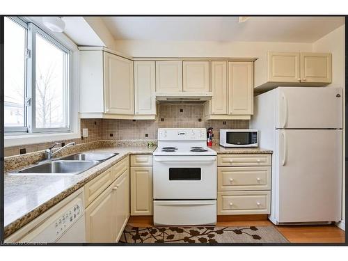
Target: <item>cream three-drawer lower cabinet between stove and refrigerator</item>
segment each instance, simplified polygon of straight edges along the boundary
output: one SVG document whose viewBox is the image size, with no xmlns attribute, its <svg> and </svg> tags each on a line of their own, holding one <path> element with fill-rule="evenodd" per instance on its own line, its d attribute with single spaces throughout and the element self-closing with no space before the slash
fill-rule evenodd
<svg viewBox="0 0 348 261">
<path fill-rule="evenodd" d="M 270 214 L 271 155 L 218 155 L 218 215 Z"/>
</svg>

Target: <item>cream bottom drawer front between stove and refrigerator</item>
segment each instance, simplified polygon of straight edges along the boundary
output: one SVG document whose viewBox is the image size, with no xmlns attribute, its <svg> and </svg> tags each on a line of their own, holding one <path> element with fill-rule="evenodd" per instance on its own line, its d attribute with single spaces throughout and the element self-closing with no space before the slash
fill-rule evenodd
<svg viewBox="0 0 348 261">
<path fill-rule="evenodd" d="M 218 215 L 270 214 L 271 191 L 218 192 Z"/>
</svg>

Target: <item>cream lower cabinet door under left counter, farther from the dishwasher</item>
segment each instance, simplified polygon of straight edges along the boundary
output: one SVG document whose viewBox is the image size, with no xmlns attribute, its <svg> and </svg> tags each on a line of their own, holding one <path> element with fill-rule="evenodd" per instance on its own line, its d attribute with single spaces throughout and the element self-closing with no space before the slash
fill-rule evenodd
<svg viewBox="0 0 348 261">
<path fill-rule="evenodd" d="M 118 242 L 129 218 L 129 171 L 115 181 L 113 187 L 113 242 Z"/>
</svg>

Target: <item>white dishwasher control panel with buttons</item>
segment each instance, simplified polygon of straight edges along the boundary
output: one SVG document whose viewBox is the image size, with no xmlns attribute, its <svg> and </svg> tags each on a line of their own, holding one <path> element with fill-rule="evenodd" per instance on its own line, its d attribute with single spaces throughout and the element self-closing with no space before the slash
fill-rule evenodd
<svg viewBox="0 0 348 261">
<path fill-rule="evenodd" d="M 83 213 L 83 206 L 81 200 L 77 200 L 69 209 L 65 210 L 54 222 L 56 228 L 56 239 L 61 237 L 70 226 L 79 219 Z"/>
</svg>

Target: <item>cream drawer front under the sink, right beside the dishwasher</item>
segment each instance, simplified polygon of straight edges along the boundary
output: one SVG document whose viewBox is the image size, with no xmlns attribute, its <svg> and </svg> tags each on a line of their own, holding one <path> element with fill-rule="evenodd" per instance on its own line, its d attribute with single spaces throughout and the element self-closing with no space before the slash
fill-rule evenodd
<svg viewBox="0 0 348 261">
<path fill-rule="evenodd" d="M 85 185 L 85 207 L 97 198 L 113 182 L 112 168 L 90 180 Z"/>
</svg>

